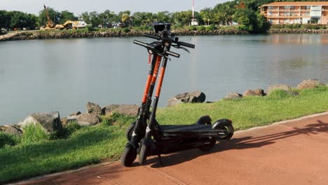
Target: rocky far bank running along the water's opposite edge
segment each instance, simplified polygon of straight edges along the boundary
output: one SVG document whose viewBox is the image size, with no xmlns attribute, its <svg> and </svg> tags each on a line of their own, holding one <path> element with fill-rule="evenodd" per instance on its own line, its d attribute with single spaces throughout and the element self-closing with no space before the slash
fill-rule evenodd
<svg viewBox="0 0 328 185">
<path fill-rule="evenodd" d="M 238 29 L 216 29 L 216 30 L 176 30 L 173 31 L 177 36 L 208 36 L 208 35 L 243 35 L 250 34 Z M 110 38 L 110 37 L 130 37 L 142 36 L 142 34 L 153 34 L 151 31 L 123 32 L 122 30 L 100 29 L 88 31 L 87 29 L 78 30 L 49 30 L 49 31 L 18 31 L 10 32 L 0 36 L 0 41 L 22 41 L 36 39 L 83 39 L 83 38 Z M 277 29 L 271 28 L 266 34 L 328 34 L 328 29 Z"/>
</svg>

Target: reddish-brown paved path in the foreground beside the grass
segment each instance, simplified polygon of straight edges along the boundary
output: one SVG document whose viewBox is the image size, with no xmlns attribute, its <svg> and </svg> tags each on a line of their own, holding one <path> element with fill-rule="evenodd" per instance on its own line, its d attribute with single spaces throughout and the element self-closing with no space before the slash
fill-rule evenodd
<svg viewBox="0 0 328 185">
<path fill-rule="evenodd" d="M 238 132 L 210 153 L 156 157 L 149 165 L 112 163 L 24 184 L 328 184 L 328 114 Z"/>
</svg>

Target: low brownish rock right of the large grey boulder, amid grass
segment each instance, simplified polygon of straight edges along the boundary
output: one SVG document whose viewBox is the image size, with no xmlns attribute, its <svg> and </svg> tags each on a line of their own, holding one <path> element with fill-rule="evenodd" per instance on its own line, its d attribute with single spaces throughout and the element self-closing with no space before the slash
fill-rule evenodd
<svg viewBox="0 0 328 185">
<path fill-rule="evenodd" d="M 79 114 L 77 116 L 68 116 L 67 123 L 72 121 L 76 121 L 76 123 L 78 123 L 78 125 L 81 126 L 92 126 L 100 123 L 100 118 L 97 116 L 97 114 L 86 113 L 86 114 Z"/>
</svg>

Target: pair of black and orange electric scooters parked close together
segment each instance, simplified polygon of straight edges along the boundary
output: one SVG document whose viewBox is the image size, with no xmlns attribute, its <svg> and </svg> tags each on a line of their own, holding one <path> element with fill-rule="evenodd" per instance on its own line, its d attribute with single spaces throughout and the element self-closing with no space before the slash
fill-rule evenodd
<svg viewBox="0 0 328 185">
<path fill-rule="evenodd" d="M 155 34 L 144 34 L 152 43 L 133 41 L 143 46 L 149 53 L 149 75 L 142 97 L 142 104 L 138 110 L 137 121 L 131 123 L 126 131 L 128 143 L 121 156 L 122 165 L 129 167 L 139 154 L 139 164 L 144 165 L 148 156 L 158 156 L 160 163 L 161 154 L 198 148 L 200 151 L 210 151 L 217 141 L 231 139 L 233 136 L 232 121 L 220 119 L 212 124 L 210 116 L 202 116 L 191 125 L 160 125 L 156 121 L 156 110 L 163 84 L 166 65 L 170 56 L 179 57 L 178 53 L 170 51 L 171 47 L 187 50 L 195 48 L 191 43 L 179 41 L 179 38 L 170 32 L 170 23 L 154 24 Z M 162 61 L 163 60 L 163 61 Z M 161 64 L 161 67 L 160 67 Z M 160 69 L 160 70 L 159 70 Z M 153 90 L 159 74 L 155 98 L 151 107 Z"/>
</svg>

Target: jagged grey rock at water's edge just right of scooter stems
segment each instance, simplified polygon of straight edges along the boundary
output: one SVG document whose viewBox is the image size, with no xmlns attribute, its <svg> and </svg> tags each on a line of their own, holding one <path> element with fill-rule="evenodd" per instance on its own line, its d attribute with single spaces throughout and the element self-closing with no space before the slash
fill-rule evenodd
<svg viewBox="0 0 328 185">
<path fill-rule="evenodd" d="M 196 90 L 190 93 L 182 93 L 175 97 L 170 97 L 168 100 L 168 107 L 175 106 L 177 104 L 184 103 L 203 103 L 205 102 L 206 95 L 200 90 Z"/>
</svg>

